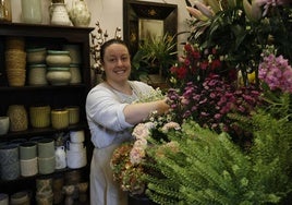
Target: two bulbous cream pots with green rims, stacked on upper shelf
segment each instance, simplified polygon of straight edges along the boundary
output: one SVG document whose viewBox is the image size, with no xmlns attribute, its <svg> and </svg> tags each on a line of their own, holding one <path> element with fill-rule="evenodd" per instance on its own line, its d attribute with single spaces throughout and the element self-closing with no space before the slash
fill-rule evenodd
<svg viewBox="0 0 292 205">
<path fill-rule="evenodd" d="M 48 50 L 46 62 L 48 65 L 47 81 L 51 85 L 69 85 L 71 81 L 70 51 Z"/>
</svg>

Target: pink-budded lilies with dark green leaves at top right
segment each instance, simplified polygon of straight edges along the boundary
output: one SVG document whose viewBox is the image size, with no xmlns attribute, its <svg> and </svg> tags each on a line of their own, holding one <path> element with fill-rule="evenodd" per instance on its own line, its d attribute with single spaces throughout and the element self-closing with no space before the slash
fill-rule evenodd
<svg viewBox="0 0 292 205">
<path fill-rule="evenodd" d="M 292 7 L 289 0 L 186 0 L 192 44 L 218 48 L 226 69 L 241 71 L 244 83 L 255 71 L 260 53 L 273 45 L 283 57 L 292 59 Z"/>
</svg>

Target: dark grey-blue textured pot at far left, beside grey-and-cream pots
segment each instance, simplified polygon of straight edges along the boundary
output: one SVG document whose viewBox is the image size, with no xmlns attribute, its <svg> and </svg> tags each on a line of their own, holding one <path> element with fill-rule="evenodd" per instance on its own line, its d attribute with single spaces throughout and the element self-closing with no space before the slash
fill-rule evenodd
<svg viewBox="0 0 292 205">
<path fill-rule="evenodd" d="M 14 180 L 20 177 L 19 146 L 16 144 L 0 147 L 0 176 L 2 180 Z"/>
</svg>

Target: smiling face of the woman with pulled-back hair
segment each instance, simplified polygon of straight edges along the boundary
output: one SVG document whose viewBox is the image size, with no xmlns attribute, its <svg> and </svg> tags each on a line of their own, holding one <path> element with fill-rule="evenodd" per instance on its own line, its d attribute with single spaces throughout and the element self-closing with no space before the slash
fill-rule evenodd
<svg viewBox="0 0 292 205">
<path fill-rule="evenodd" d="M 127 81 L 131 74 L 131 60 L 127 48 L 121 44 L 112 44 L 105 50 L 104 69 L 107 81 Z"/>
</svg>

